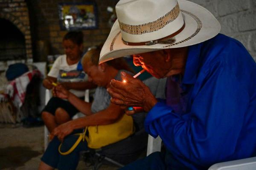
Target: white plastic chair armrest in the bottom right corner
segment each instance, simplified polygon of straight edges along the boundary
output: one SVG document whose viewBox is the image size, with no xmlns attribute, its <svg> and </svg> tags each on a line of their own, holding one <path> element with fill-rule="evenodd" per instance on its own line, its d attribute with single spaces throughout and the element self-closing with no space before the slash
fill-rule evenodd
<svg viewBox="0 0 256 170">
<path fill-rule="evenodd" d="M 213 164 L 208 170 L 256 170 L 256 157 Z"/>
</svg>

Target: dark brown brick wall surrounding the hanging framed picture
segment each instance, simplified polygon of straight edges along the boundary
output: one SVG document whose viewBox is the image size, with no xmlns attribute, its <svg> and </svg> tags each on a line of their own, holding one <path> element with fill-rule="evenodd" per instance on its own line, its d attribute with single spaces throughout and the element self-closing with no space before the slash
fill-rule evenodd
<svg viewBox="0 0 256 170">
<path fill-rule="evenodd" d="M 87 2 L 82 0 L 28 0 L 31 21 L 32 40 L 35 45 L 35 61 L 46 61 L 47 55 L 64 54 L 62 38 L 67 31 L 62 31 L 58 18 L 58 3 Z M 93 0 L 97 4 L 98 29 L 82 30 L 84 47 L 104 43 L 110 32 L 108 20 L 111 14 L 108 6 L 115 6 L 118 0 Z"/>
</svg>

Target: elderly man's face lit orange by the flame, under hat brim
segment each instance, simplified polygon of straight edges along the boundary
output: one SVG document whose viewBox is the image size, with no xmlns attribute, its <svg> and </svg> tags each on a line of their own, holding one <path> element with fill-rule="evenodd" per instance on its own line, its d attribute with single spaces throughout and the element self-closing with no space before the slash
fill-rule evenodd
<svg viewBox="0 0 256 170">
<path fill-rule="evenodd" d="M 135 66 L 142 66 L 148 73 L 156 78 L 164 78 L 168 72 L 164 61 L 163 52 L 146 52 L 133 55 Z"/>
</svg>

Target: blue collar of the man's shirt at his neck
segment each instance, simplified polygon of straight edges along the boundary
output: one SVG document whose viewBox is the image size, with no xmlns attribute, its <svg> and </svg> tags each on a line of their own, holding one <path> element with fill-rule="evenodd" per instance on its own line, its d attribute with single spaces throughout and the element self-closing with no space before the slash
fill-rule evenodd
<svg viewBox="0 0 256 170">
<path fill-rule="evenodd" d="M 197 78 L 199 67 L 199 56 L 202 43 L 189 46 L 188 57 L 186 61 L 185 73 L 183 76 L 183 84 L 194 84 Z"/>
</svg>

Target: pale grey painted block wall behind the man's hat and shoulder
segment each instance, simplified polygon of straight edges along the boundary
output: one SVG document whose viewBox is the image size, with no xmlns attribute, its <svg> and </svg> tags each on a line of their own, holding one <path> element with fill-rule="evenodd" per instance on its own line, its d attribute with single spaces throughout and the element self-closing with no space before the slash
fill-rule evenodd
<svg viewBox="0 0 256 170">
<path fill-rule="evenodd" d="M 221 33 L 239 40 L 256 61 L 256 0 L 190 0 L 221 23 Z"/>
</svg>

